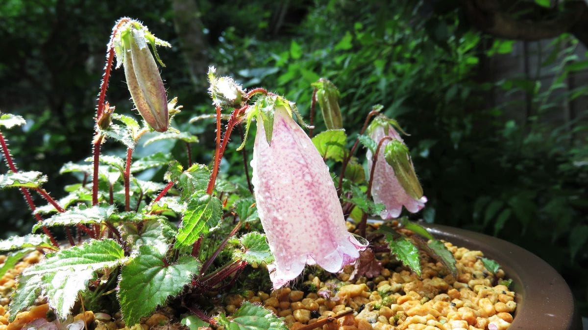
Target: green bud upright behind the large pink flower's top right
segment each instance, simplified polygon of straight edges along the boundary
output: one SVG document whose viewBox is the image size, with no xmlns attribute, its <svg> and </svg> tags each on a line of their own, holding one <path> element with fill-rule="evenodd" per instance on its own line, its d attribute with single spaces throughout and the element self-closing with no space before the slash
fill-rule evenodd
<svg viewBox="0 0 588 330">
<path fill-rule="evenodd" d="M 319 102 L 320 111 L 327 129 L 342 129 L 343 119 L 339 108 L 339 90 L 337 87 L 325 78 L 320 78 L 312 86 L 316 88 L 316 100 Z"/>
</svg>

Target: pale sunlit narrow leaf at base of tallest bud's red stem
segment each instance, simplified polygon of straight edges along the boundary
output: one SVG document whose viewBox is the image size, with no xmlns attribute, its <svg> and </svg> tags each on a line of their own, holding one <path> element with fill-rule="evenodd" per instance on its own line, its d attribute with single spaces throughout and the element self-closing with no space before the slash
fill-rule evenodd
<svg viewBox="0 0 588 330">
<path fill-rule="evenodd" d="M 33 226 L 33 233 L 42 227 L 55 227 L 58 225 L 70 226 L 76 224 L 102 223 L 114 212 L 114 206 L 78 206 L 71 208 L 64 213 L 58 213 L 51 218 L 45 219 Z"/>
</svg>

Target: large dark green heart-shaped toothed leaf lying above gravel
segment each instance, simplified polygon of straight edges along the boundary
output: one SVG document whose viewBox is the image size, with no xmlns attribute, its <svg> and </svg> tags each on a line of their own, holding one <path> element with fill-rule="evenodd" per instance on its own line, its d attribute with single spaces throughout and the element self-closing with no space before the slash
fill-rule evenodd
<svg viewBox="0 0 588 330">
<path fill-rule="evenodd" d="M 155 248 L 142 245 L 139 255 L 122 268 L 118 298 L 126 325 L 137 324 L 165 304 L 169 296 L 178 295 L 201 267 L 198 260 L 187 255 L 171 265 L 165 265 L 163 258 Z"/>
</svg>

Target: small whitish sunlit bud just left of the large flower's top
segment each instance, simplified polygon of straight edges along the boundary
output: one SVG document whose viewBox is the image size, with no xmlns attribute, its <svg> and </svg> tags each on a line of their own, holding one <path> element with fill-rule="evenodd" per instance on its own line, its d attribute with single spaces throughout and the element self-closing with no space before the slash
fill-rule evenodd
<svg viewBox="0 0 588 330">
<path fill-rule="evenodd" d="M 216 69 L 211 66 L 208 68 L 208 81 L 211 84 L 208 91 L 215 106 L 241 108 L 245 105 L 243 88 L 233 78 L 216 78 Z"/>
</svg>

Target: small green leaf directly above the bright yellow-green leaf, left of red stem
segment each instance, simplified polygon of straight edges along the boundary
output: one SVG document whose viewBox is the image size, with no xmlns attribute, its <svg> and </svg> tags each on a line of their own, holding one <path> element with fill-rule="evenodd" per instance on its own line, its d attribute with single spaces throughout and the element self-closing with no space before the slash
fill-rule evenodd
<svg viewBox="0 0 588 330">
<path fill-rule="evenodd" d="M 181 200 L 186 201 L 193 193 L 206 190 L 211 171 L 202 164 L 193 164 L 189 169 L 183 171 L 178 161 L 173 161 L 169 166 L 171 180 L 181 192 Z"/>
</svg>

